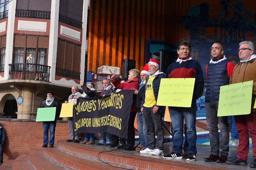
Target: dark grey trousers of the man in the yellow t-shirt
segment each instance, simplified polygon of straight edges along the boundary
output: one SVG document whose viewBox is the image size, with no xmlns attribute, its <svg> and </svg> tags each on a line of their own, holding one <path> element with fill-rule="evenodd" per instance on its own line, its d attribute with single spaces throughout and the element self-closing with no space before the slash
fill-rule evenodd
<svg viewBox="0 0 256 170">
<path fill-rule="evenodd" d="M 163 150 L 164 129 L 162 128 L 162 114 L 154 114 L 153 107 L 143 107 L 143 115 L 147 126 L 148 148 Z M 155 134 L 157 136 L 157 141 Z"/>
</svg>

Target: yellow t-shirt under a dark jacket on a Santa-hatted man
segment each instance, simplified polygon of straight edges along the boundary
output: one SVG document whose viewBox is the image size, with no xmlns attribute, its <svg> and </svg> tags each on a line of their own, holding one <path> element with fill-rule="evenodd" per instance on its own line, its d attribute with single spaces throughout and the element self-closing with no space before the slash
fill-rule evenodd
<svg viewBox="0 0 256 170">
<path fill-rule="evenodd" d="M 146 93 L 145 93 L 145 103 L 143 106 L 145 107 L 153 107 L 156 105 L 156 99 L 153 91 L 153 80 L 156 76 L 149 77 L 148 83 L 146 84 Z"/>
</svg>

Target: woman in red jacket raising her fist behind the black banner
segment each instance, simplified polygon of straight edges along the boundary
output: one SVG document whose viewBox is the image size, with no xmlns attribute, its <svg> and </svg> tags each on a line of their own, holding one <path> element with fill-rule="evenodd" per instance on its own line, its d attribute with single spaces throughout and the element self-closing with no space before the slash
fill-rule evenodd
<svg viewBox="0 0 256 170">
<path fill-rule="evenodd" d="M 132 90 L 132 89 L 137 89 L 139 87 L 138 77 L 140 77 L 140 71 L 137 69 L 132 69 L 129 71 L 128 80 L 125 83 L 119 83 L 115 75 L 112 75 L 110 81 L 118 89 Z M 124 138 L 120 138 L 120 144 L 118 144 L 118 137 L 115 135 L 112 135 L 112 145 L 110 145 L 110 147 L 111 146 L 113 147 L 118 144 L 118 146 L 116 146 L 115 148 L 124 148 L 124 150 L 134 150 L 134 144 L 135 144 L 134 119 L 136 117 L 136 113 L 137 113 L 137 109 L 133 102 L 132 108 L 130 111 L 130 118 L 128 122 L 127 145 L 125 144 Z"/>
</svg>

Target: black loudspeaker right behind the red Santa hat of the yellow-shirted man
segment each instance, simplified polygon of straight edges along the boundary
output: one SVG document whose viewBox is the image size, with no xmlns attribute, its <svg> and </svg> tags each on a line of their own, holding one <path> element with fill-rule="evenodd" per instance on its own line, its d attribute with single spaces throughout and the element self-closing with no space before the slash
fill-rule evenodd
<svg viewBox="0 0 256 170">
<path fill-rule="evenodd" d="M 166 73 L 167 68 L 177 58 L 175 52 L 168 52 L 168 51 L 156 51 L 151 54 L 152 59 L 156 59 L 160 61 L 159 63 L 159 71 Z"/>
</svg>

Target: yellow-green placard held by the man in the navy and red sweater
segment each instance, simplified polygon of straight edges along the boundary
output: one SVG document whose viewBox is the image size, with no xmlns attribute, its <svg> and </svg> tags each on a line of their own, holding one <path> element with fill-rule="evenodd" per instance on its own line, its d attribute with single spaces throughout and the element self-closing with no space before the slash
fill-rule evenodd
<svg viewBox="0 0 256 170">
<path fill-rule="evenodd" d="M 195 78 L 161 79 L 156 105 L 191 107 Z"/>
</svg>

